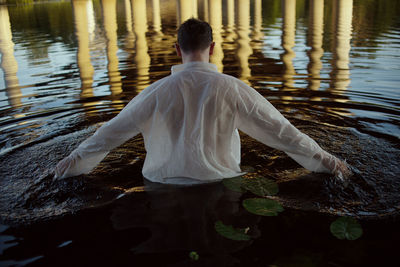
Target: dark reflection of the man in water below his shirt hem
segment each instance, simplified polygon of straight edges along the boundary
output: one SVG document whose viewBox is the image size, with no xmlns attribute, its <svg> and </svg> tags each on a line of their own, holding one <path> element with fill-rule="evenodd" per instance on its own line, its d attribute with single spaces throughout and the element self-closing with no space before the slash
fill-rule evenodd
<svg viewBox="0 0 400 267">
<path fill-rule="evenodd" d="M 259 235 L 260 218 L 240 207 L 240 196 L 222 183 L 173 186 L 145 181 L 145 193 L 127 194 L 116 201 L 111 220 L 116 230 L 144 227 L 151 231 L 146 242 L 132 249 L 136 253 L 189 250 L 226 257 L 252 241 L 220 236 L 214 228 L 216 221 L 249 227 L 250 235 Z"/>
</svg>

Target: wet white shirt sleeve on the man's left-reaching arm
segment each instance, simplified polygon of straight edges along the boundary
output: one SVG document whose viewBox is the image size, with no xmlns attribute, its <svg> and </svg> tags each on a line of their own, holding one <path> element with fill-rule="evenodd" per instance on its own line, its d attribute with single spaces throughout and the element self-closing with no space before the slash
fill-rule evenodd
<svg viewBox="0 0 400 267">
<path fill-rule="evenodd" d="M 136 96 L 116 117 L 103 124 L 94 135 L 60 161 L 55 169 L 55 177 L 89 173 L 112 149 L 140 133 L 140 122 L 146 120 L 152 108 L 148 96 Z"/>
</svg>

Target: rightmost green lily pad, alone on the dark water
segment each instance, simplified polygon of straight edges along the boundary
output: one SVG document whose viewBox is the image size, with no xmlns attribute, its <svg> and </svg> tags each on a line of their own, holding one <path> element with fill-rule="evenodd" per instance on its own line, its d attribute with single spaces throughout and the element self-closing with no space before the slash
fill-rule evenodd
<svg viewBox="0 0 400 267">
<path fill-rule="evenodd" d="M 331 223 L 331 233 L 339 239 L 356 240 L 361 237 L 363 230 L 356 219 L 340 217 Z"/>
</svg>

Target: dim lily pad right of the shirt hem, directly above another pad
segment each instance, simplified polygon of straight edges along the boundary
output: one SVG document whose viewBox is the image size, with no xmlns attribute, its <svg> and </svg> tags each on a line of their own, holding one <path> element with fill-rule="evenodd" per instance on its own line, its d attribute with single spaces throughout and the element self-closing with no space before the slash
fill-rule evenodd
<svg viewBox="0 0 400 267">
<path fill-rule="evenodd" d="M 243 187 L 253 194 L 265 197 L 274 196 L 278 193 L 278 184 L 265 177 L 243 179 Z"/>
</svg>

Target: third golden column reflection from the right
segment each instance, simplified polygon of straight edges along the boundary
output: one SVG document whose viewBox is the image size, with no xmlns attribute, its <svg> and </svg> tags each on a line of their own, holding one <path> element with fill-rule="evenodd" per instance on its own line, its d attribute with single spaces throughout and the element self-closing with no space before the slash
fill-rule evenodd
<svg viewBox="0 0 400 267">
<path fill-rule="evenodd" d="M 282 11 L 282 47 L 284 52 L 281 55 L 281 59 L 285 68 L 283 74 L 283 87 L 286 89 L 293 87 L 293 76 L 296 74 L 293 66 L 293 58 L 296 56 L 293 51 L 296 33 L 296 0 L 282 0 Z M 291 97 L 284 98 L 291 99 Z"/>
</svg>

